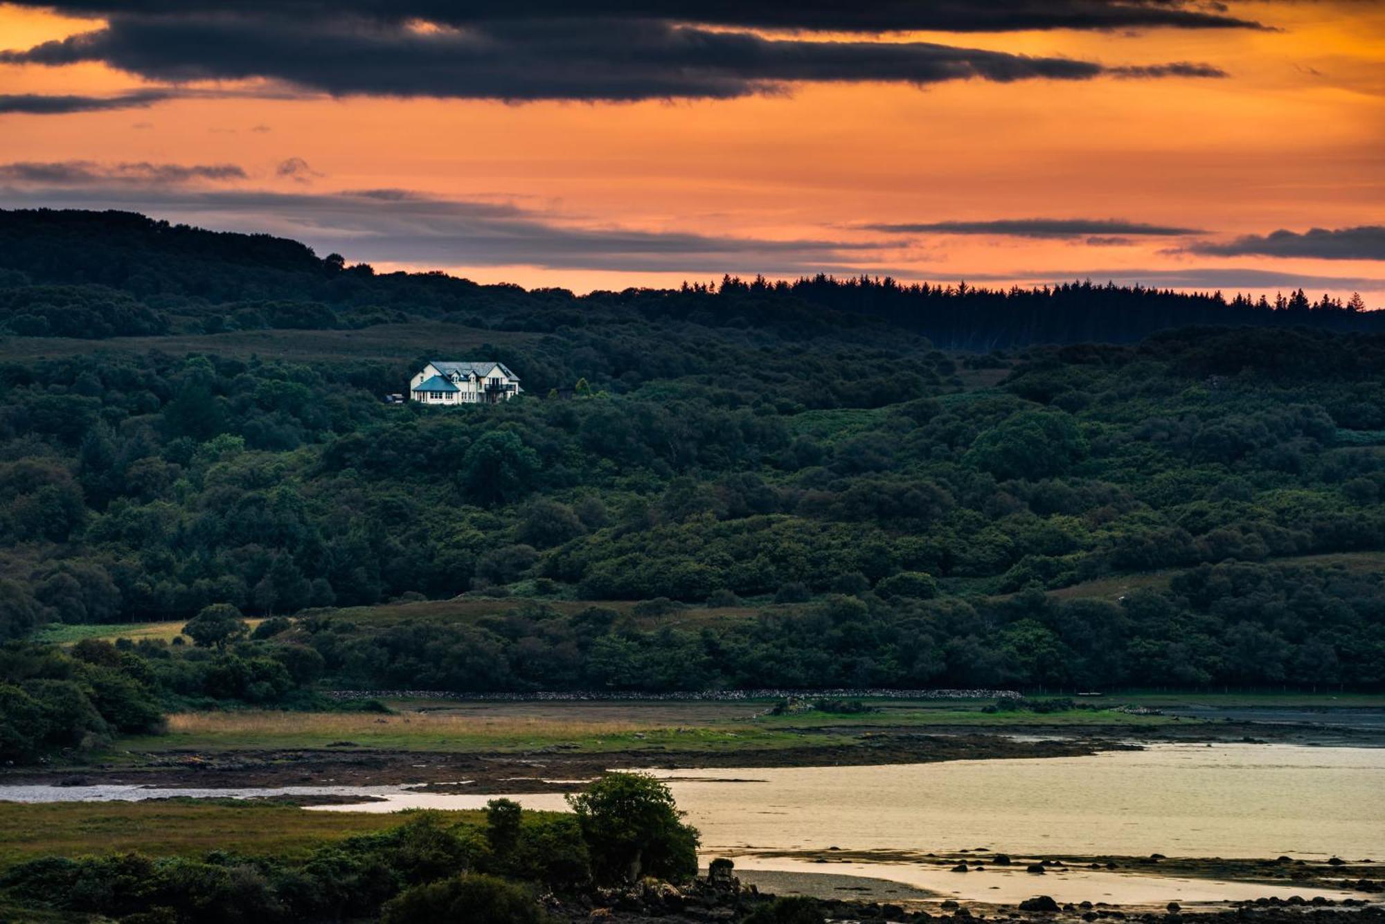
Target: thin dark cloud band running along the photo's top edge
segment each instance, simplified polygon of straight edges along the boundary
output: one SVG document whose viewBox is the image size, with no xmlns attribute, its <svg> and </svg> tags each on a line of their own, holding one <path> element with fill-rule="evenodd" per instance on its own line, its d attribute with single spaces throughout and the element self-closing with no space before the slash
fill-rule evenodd
<svg viewBox="0 0 1385 924">
<path fill-rule="evenodd" d="M 76 15 L 357 17 L 471 26 L 497 19 L 663 19 L 817 32 L 1263 28 L 1201 0 L 19 0 Z"/>
</svg>

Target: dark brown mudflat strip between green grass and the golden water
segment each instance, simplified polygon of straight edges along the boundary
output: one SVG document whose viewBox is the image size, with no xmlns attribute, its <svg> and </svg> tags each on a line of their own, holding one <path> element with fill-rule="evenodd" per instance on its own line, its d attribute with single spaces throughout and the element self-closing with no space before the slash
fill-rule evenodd
<svg viewBox="0 0 1385 924">
<path fill-rule="evenodd" d="M 791 729 L 785 729 L 791 730 Z M 806 732 L 807 729 L 805 729 Z M 633 748 L 575 751 L 447 752 L 332 747 L 294 750 L 179 751 L 126 755 L 120 764 L 0 770 L 3 783 L 145 783 L 159 786 L 292 786 L 457 783 L 468 793 L 565 793 L 608 769 L 716 769 L 765 766 L 861 766 L 1000 758 L 1082 757 L 1152 743 L 1253 741 L 1323 747 L 1385 747 L 1374 725 L 1187 721 L 1158 726 L 1024 723 L 932 725 L 927 730 L 837 726 L 853 740 L 831 746 L 676 751 Z"/>
</svg>

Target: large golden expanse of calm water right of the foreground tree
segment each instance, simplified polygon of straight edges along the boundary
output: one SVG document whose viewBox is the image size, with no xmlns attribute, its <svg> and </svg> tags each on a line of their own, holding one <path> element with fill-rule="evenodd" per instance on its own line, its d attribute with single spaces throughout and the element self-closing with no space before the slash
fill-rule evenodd
<svg viewBox="0 0 1385 924">
<path fill-rule="evenodd" d="M 1174 744 L 717 776 L 763 782 L 674 779 L 709 847 L 1385 860 L 1379 748 Z"/>
</svg>

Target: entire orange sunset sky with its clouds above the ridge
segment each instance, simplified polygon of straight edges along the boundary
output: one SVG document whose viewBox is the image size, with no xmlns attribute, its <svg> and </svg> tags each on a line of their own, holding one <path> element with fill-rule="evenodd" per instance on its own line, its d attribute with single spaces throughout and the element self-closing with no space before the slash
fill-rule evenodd
<svg viewBox="0 0 1385 924">
<path fill-rule="evenodd" d="M 1385 307 L 1385 3 L 551 6 L 0 4 L 0 207 L 579 292 L 823 270 Z"/>
</svg>

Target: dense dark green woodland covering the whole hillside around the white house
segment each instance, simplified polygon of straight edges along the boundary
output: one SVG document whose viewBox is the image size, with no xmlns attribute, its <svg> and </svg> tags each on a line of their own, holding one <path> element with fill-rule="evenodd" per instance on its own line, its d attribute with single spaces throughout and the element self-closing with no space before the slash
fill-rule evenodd
<svg viewBox="0 0 1385 924">
<path fill-rule="evenodd" d="M 1341 331 L 1381 314 L 821 279 L 573 297 L 118 213 L 0 213 L 0 636 L 301 616 L 181 649 L 14 643 L 6 696 L 97 668 L 150 701 L 1385 686 L 1385 574 L 1360 566 L 1385 552 L 1385 335 Z M 1024 346 L 917 333 L 963 315 L 1025 318 L 993 329 Z M 384 404 L 427 342 L 217 349 L 270 328 L 386 344 L 410 318 L 476 331 L 456 358 L 506 362 L 526 394 Z M 1123 343 L 1168 321 L 1202 326 Z M 151 339 L 48 350 L 122 335 Z M 1112 343 L 1062 343 L 1087 339 Z M 1152 573 L 1119 600 L 1050 595 Z M 348 610 L 458 595 L 529 602 Z"/>
</svg>

